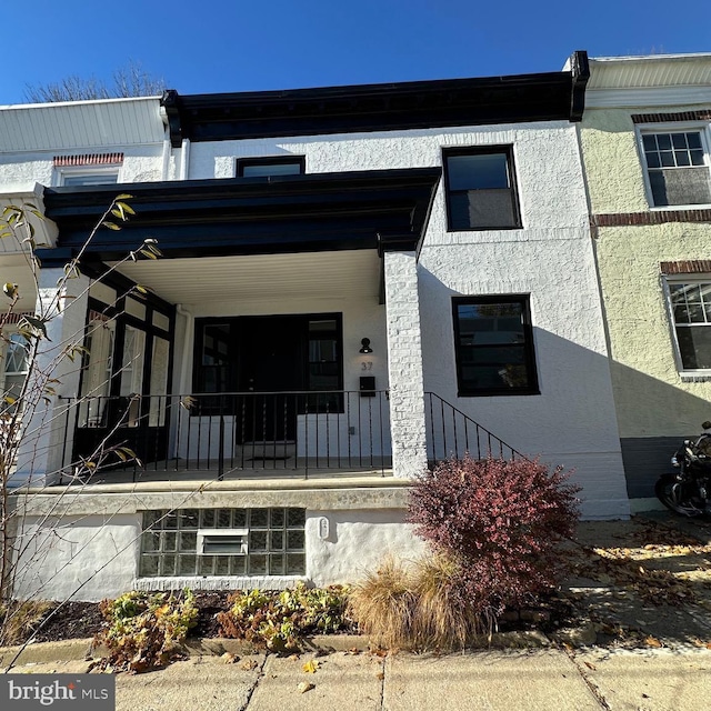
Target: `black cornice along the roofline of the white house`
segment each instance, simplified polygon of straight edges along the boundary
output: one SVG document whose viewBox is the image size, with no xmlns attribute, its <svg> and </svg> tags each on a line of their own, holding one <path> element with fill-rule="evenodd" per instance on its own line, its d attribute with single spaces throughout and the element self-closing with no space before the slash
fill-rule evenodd
<svg viewBox="0 0 711 711">
<path fill-rule="evenodd" d="M 319 89 L 180 96 L 163 93 L 170 140 L 226 141 L 521 121 L 580 121 L 590 69 Z"/>
</svg>

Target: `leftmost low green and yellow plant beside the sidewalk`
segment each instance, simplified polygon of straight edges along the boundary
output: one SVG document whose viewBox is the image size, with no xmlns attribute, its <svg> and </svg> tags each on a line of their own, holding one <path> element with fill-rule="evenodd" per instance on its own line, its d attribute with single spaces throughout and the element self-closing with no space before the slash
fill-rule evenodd
<svg viewBox="0 0 711 711">
<path fill-rule="evenodd" d="M 116 600 L 103 600 L 100 609 L 107 625 L 94 638 L 94 647 L 108 649 L 100 667 L 134 673 L 180 658 L 188 630 L 198 617 L 190 590 L 181 595 L 127 592 Z"/>
</svg>

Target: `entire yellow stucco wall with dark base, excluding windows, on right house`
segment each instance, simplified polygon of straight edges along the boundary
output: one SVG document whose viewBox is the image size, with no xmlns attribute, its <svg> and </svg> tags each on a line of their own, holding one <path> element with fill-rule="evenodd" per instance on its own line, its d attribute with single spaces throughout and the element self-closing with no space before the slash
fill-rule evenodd
<svg viewBox="0 0 711 711">
<path fill-rule="evenodd" d="M 580 143 L 592 213 L 654 211 L 645 194 L 632 113 L 699 108 L 708 107 L 587 110 Z M 674 443 L 698 433 L 711 414 L 711 378 L 679 373 L 660 262 L 710 259 L 711 226 L 600 227 L 594 247 L 628 490 L 631 497 L 652 497 L 654 480 L 669 471 Z"/>
</svg>

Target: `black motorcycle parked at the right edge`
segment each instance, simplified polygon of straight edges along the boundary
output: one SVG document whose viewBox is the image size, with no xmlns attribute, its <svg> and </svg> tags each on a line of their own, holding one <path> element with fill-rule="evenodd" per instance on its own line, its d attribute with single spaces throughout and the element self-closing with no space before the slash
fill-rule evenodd
<svg viewBox="0 0 711 711">
<path fill-rule="evenodd" d="M 662 474 L 654 485 L 657 498 L 672 511 L 687 517 L 710 512 L 711 493 L 711 422 L 701 425 L 697 440 L 684 440 L 674 452 L 671 464 L 678 471 Z"/>
</svg>

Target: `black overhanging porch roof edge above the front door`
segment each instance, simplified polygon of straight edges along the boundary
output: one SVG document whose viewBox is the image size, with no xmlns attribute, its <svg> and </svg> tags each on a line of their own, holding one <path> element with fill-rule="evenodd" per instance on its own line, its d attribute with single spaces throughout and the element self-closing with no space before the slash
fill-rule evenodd
<svg viewBox="0 0 711 711">
<path fill-rule="evenodd" d="M 440 168 L 411 168 L 48 188 L 47 216 L 59 226 L 62 249 L 43 250 L 40 259 L 66 263 L 120 193 L 132 196 L 137 214 L 121 231 L 99 229 L 86 249 L 90 260 L 121 259 L 147 237 L 167 259 L 374 250 L 381 243 L 417 250 L 440 176 Z"/>
</svg>

